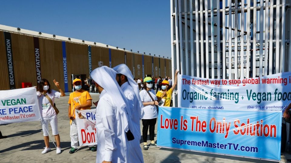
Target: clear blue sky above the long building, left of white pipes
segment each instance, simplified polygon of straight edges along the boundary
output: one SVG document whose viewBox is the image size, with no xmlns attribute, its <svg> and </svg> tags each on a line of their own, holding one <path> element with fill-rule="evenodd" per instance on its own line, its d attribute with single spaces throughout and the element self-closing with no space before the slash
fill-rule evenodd
<svg viewBox="0 0 291 163">
<path fill-rule="evenodd" d="M 0 24 L 171 57 L 167 0 L 2 1 Z"/>
</svg>

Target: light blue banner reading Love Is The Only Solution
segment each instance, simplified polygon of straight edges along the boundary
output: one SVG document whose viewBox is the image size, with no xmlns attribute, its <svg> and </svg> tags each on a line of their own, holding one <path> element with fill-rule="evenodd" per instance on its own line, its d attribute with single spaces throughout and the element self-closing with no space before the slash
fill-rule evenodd
<svg viewBox="0 0 291 163">
<path fill-rule="evenodd" d="M 159 107 L 159 147 L 280 160 L 280 111 Z"/>
</svg>

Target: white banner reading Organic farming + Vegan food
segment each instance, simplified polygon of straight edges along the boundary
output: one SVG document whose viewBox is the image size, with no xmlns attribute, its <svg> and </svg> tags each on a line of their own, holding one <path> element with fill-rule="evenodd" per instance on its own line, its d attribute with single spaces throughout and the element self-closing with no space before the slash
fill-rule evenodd
<svg viewBox="0 0 291 163">
<path fill-rule="evenodd" d="M 291 99 L 291 73 L 257 78 L 208 79 L 179 75 L 178 107 L 216 110 L 283 110 Z"/>
</svg>

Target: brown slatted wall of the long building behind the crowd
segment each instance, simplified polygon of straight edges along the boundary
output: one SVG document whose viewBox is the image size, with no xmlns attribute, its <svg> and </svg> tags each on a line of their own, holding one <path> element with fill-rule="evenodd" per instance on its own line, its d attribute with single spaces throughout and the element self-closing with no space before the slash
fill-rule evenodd
<svg viewBox="0 0 291 163">
<path fill-rule="evenodd" d="M 72 74 L 85 74 L 86 77 L 89 77 L 87 44 L 33 37 L 18 33 L 10 33 L 10 35 L 15 88 L 22 88 L 22 82 L 31 82 L 32 85 L 36 86 L 41 78 L 46 78 L 50 82 L 52 89 L 57 89 L 53 83 L 55 79 L 63 90 L 67 88 L 68 91 L 72 91 Z M 64 58 L 64 53 L 66 58 Z M 109 62 L 109 54 L 111 54 L 111 62 Z M 154 57 L 154 66 L 152 67 L 152 56 L 144 55 L 143 58 L 144 73 L 142 71 L 141 54 L 91 46 L 92 70 L 101 66 L 109 66 L 110 64 L 113 68 L 119 64 L 126 63 L 135 78 L 143 78 L 146 75 L 152 75 L 152 68 L 154 68 L 154 76 L 158 76 L 155 74 L 155 72 L 158 72 L 155 68 L 160 66 L 160 74 L 165 77 L 165 59 L 160 58 L 159 65 L 159 58 Z M 167 62 L 170 62 L 170 60 L 166 59 Z M 2 75 L 2 78 L 0 78 L 0 90 L 12 88 L 9 85 L 8 66 L 5 35 L 3 31 L 0 31 L 0 72 Z M 168 64 L 166 64 L 166 75 L 169 75 L 171 72 L 167 66 Z"/>
</svg>

